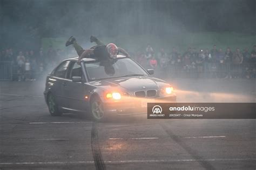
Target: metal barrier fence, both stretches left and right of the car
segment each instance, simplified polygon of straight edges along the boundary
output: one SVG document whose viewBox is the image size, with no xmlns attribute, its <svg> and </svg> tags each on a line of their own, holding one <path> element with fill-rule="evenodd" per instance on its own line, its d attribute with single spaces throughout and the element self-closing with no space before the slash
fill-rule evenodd
<svg viewBox="0 0 256 170">
<path fill-rule="evenodd" d="M 46 69 L 49 70 L 49 69 Z M 42 77 L 42 71 L 25 71 L 12 62 L 0 62 L 0 80 L 31 80 Z M 169 65 L 155 69 L 161 78 L 256 78 L 256 63 L 242 65 L 204 63 L 202 65 Z"/>
</svg>

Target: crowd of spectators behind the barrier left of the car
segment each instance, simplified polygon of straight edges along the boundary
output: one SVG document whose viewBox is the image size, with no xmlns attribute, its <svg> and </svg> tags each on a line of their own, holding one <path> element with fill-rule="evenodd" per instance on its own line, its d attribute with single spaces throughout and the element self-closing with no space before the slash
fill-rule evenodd
<svg viewBox="0 0 256 170">
<path fill-rule="evenodd" d="M 42 47 L 38 51 L 10 48 L 0 51 L 0 67 L 4 67 L 2 70 L 7 71 L 6 74 L 11 67 L 12 80 L 35 81 L 48 68 L 55 67 L 63 56 L 62 50 L 55 50 L 52 46 L 46 52 Z"/>
</svg>

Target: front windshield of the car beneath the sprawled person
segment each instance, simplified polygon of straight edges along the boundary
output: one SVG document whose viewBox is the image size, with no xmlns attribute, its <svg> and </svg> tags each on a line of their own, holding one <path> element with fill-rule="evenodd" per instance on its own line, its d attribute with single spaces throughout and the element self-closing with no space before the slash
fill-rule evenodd
<svg viewBox="0 0 256 170">
<path fill-rule="evenodd" d="M 90 81 L 148 75 L 142 67 L 130 58 L 119 58 L 113 61 L 93 61 L 84 63 Z"/>
</svg>

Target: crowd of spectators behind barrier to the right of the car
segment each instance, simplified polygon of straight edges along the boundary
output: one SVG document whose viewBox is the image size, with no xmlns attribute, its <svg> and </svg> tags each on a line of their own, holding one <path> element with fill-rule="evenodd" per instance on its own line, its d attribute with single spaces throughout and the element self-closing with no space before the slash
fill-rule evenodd
<svg viewBox="0 0 256 170">
<path fill-rule="evenodd" d="M 154 69 L 161 76 L 185 78 L 255 78 L 256 45 L 250 52 L 230 47 L 224 51 L 214 45 L 211 50 L 188 47 L 179 52 L 176 47 L 166 52 L 153 50 L 147 45 L 144 52 L 137 52 L 135 60 L 146 69 Z"/>
</svg>

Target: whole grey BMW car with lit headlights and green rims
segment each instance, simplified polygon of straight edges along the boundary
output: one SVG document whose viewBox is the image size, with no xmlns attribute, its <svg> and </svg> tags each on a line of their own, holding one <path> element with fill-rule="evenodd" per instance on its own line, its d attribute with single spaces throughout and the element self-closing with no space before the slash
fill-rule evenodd
<svg viewBox="0 0 256 170">
<path fill-rule="evenodd" d="M 84 58 L 80 64 L 77 59 L 63 60 L 46 78 L 44 97 L 53 116 L 82 112 L 99 121 L 110 114 L 146 113 L 147 103 L 176 101 L 170 84 L 131 58 Z"/>
</svg>

